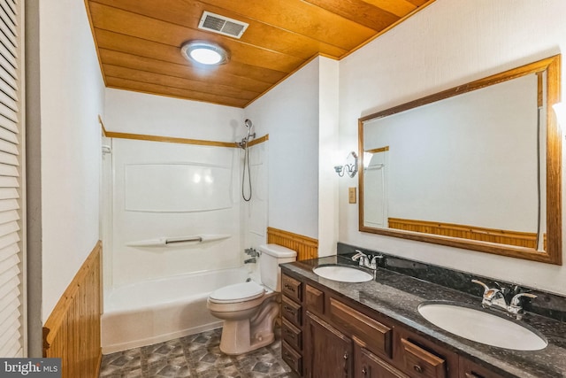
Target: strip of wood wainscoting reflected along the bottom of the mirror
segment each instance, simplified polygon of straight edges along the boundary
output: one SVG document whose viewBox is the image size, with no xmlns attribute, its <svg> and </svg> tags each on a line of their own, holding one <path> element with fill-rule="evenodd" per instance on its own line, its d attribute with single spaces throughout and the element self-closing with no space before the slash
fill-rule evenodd
<svg viewBox="0 0 566 378">
<path fill-rule="evenodd" d="M 429 220 L 403 220 L 400 218 L 389 218 L 388 221 L 389 228 L 402 229 L 405 231 L 452 236 L 480 242 L 516 245 L 518 247 L 532 249 L 537 248 L 536 233 L 509 231 L 495 228 L 481 228 L 453 223 L 433 222 Z"/>
</svg>

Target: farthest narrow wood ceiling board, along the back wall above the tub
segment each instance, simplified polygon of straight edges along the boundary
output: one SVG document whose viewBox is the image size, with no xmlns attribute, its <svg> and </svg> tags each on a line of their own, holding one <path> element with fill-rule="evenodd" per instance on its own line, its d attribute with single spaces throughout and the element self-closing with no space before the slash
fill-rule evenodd
<svg viewBox="0 0 566 378">
<path fill-rule="evenodd" d="M 193 101 L 202 101 L 210 104 L 220 104 L 226 106 L 233 106 L 243 108 L 249 103 L 245 99 L 236 99 L 227 96 L 216 96 L 204 93 L 197 93 L 192 90 L 177 89 L 171 87 L 164 87 L 157 84 L 149 84 L 141 81 L 132 81 L 108 76 L 106 78 L 106 85 L 113 89 L 126 89 L 134 92 L 149 93 L 151 95 L 170 96 L 177 98 L 184 98 Z"/>
</svg>

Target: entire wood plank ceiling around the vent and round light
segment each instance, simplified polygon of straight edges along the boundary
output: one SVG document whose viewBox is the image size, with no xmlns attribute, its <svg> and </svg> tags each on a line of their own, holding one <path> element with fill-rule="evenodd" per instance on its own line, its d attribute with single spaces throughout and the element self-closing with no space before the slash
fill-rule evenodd
<svg viewBox="0 0 566 378">
<path fill-rule="evenodd" d="M 85 0 L 109 88 L 245 107 L 318 55 L 340 59 L 434 0 Z M 249 23 L 236 39 L 198 29 L 203 12 Z M 197 66 L 190 40 L 230 61 Z"/>
</svg>

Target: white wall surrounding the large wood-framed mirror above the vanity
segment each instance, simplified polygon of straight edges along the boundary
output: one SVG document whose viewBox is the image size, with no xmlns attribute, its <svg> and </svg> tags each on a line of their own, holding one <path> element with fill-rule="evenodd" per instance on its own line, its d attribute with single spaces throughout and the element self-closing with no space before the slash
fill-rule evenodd
<svg viewBox="0 0 566 378">
<path fill-rule="evenodd" d="M 340 148 L 357 150 L 363 115 L 566 50 L 564 15 L 562 0 L 437 0 L 340 61 Z M 357 177 L 340 181 L 340 242 L 566 294 L 566 266 L 360 233 L 348 186 Z"/>
</svg>

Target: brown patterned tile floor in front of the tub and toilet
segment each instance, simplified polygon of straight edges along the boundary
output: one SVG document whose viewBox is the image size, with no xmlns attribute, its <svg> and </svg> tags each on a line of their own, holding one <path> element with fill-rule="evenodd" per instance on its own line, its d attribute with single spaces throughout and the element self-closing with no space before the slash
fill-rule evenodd
<svg viewBox="0 0 566 378">
<path fill-rule="evenodd" d="M 221 328 L 103 356 L 100 378 L 297 378 L 281 359 L 280 328 L 271 345 L 240 356 L 218 348 Z"/>
</svg>

